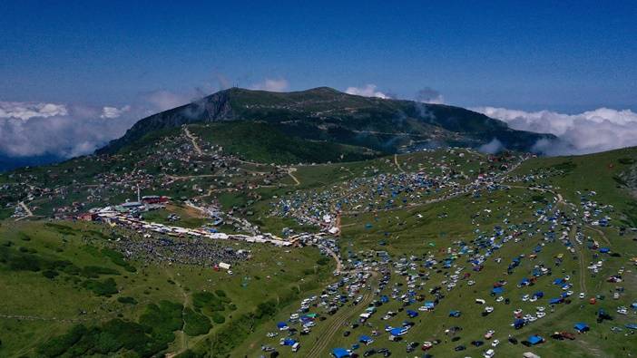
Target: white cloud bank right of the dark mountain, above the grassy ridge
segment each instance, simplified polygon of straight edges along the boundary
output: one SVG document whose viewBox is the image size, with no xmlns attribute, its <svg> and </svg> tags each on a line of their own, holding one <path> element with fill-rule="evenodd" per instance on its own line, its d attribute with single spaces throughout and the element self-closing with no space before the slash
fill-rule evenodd
<svg viewBox="0 0 637 358">
<path fill-rule="evenodd" d="M 549 155 L 583 154 L 637 146 L 637 113 L 599 108 L 579 114 L 554 111 L 515 111 L 480 107 L 489 117 L 505 121 L 515 130 L 552 133 L 559 141 L 540 140 L 537 150 Z"/>
</svg>

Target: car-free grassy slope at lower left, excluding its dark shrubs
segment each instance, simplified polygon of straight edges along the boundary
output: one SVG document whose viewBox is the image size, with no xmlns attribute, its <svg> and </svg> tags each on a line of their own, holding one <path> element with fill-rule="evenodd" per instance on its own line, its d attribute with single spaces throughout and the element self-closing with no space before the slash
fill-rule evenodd
<svg viewBox="0 0 637 358">
<path fill-rule="evenodd" d="M 83 223 L 64 223 L 64 226 L 70 228 L 61 232 L 54 227 L 45 226 L 43 222 L 4 222 L 0 227 L 0 237 L 3 245 L 11 241 L 14 243 L 13 247 L 35 250 L 34 255 L 39 257 L 66 259 L 79 267 L 102 266 L 118 270 L 120 275 L 100 278 L 113 277 L 119 293 L 111 297 L 98 296 L 81 285 L 67 281 L 64 274 L 51 280 L 45 278 L 42 272 L 15 271 L 0 264 L 0 283 L 3 287 L 12 287 L 0 293 L 0 314 L 4 316 L 0 319 L 2 356 L 31 354 L 34 347 L 52 336 L 63 334 L 73 324 L 91 326 L 117 317 L 135 322 L 148 304 L 168 300 L 192 306 L 193 293 L 220 289 L 237 306 L 237 310 L 222 313 L 226 323 L 213 324 L 210 334 L 213 336 L 222 332 L 223 327 L 232 322 L 232 317 L 251 312 L 261 302 L 277 300 L 279 295 L 291 292 L 290 288 L 299 287 L 303 279 L 314 277 L 313 280 L 319 281 L 320 275 L 323 275 L 308 276 L 304 271 L 306 267 L 314 266 L 319 258 L 313 249 L 294 249 L 284 253 L 266 246 L 245 246 L 252 250 L 253 258 L 234 266 L 233 276 L 214 272 L 211 268 L 144 265 L 143 262 L 132 262 L 138 270 L 130 273 L 121 266 L 114 265 L 98 250 L 86 245 L 84 237 L 91 237 L 94 247 L 103 246 L 103 234 L 99 233 L 110 235 L 104 231 L 104 227 Z M 30 237 L 30 240 L 22 239 L 23 235 Z M 325 270 L 328 272 L 329 268 L 325 267 Z M 260 289 L 254 290 L 255 287 Z M 117 297 L 124 296 L 133 297 L 137 305 L 119 303 Z M 81 311 L 86 314 L 80 314 Z M 7 318 L 7 315 L 34 318 Z M 169 348 L 171 352 L 185 349 L 186 344 L 194 347 L 203 343 L 206 338 L 204 335 L 188 337 L 181 332 L 176 335 L 177 340 Z"/>
</svg>

